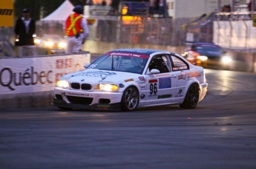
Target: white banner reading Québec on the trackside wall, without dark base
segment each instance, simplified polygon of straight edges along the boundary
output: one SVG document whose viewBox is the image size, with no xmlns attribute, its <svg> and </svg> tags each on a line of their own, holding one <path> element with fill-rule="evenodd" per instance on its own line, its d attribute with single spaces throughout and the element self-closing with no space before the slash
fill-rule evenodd
<svg viewBox="0 0 256 169">
<path fill-rule="evenodd" d="M 0 95 L 53 90 L 62 75 L 84 69 L 87 55 L 0 60 Z"/>
</svg>

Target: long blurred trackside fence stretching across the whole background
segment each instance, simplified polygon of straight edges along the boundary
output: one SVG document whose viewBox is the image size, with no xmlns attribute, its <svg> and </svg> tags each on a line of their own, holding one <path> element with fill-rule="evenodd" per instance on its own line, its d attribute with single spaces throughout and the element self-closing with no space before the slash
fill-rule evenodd
<svg viewBox="0 0 256 169">
<path fill-rule="evenodd" d="M 220 15 L 218 15 L 219 17 Z M 254 28 L 250 24 L 240 24 L 236 27 L 220 27 L 220 20 L 206 24 L 191 24 L 192 18 L 147 18 L 134 17 L 133 20 L 121 20 L 118 16 L 96 19 L 95 24 L 91 24 L 90 41 L 102 41 L 110 43 L 124 44 L 151 44 L 163 46 L 186 46 L 189 36 L 193 41 L 214 42 L 226 49 L 235 49 L 240 52 L 252 52 L 256 49 Z M 234 21 L 223 21 L 223 23 L 234 25 Z M 226 25 L 223 24 L 223 25 Z M 36 35 L 41 37 L 44 34 L 63 35 L 63 22 L 60 21 L 37 21 Z M 10 42 L 14 42 L 13 28 L 2 27 L 1 32 L 7 35 Z M 220 33 L 222 32 L 222 33 Z M 227 33 L 229 32 L 229 33 Z M 237 35 L 244 35 L 241 39 L 234 38 L 234 32 Z M 230 34 L 232 33 L 232 34 Z M 234 46 L 234 42 L 240 46 Z M 220 43 L 221 42 L 221 43 Z M 230 42 L 232 42 L 230 45 Z M 228 45 L 229 44 L 229 45 Z"/>
</svg>

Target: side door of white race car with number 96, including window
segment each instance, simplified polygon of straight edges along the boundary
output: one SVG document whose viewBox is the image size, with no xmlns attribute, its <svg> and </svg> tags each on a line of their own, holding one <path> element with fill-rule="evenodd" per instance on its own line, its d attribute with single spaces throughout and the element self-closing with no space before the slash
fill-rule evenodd
<svg viewBox="0 0 256 169">
<path fill-rule="evenodd" d="M 152 69 L 160 71 L 158 74 L 150 74 Z M 177 75 L 171 70 L 171 62 L 168 55 L 156 55 L 151 59 L 147 69 L 146 102 L 152 104 L 171 103 L 177 88 Z"/>
</svg>

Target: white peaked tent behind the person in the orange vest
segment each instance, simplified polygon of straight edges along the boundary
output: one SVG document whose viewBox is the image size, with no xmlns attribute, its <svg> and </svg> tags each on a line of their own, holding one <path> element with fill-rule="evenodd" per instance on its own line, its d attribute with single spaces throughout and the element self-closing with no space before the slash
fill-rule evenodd
<svg viewBox="0 0 256 169">
<path fill-rule="evenodd" d="M 66 0 L 58 7 L 53 13 L 47 15 L 47 17 L 42 18 L 41 21 L 65 21 L 70 13 L 73 13 L 73 4 Z"/>
</svg>

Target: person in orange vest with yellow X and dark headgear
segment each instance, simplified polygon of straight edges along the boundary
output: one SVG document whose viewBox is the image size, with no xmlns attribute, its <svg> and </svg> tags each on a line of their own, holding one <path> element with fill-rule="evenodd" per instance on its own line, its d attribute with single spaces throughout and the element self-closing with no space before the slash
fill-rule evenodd
<svg viewBox="0 0 256 169">
<path fill-rule="evenodd" d="M 89 35 L 87 21 L 82 17 L 82 6 L 76 5 L 72 14 L 65 21 L 66 53 L 77 53 Z"/>
</svg>

